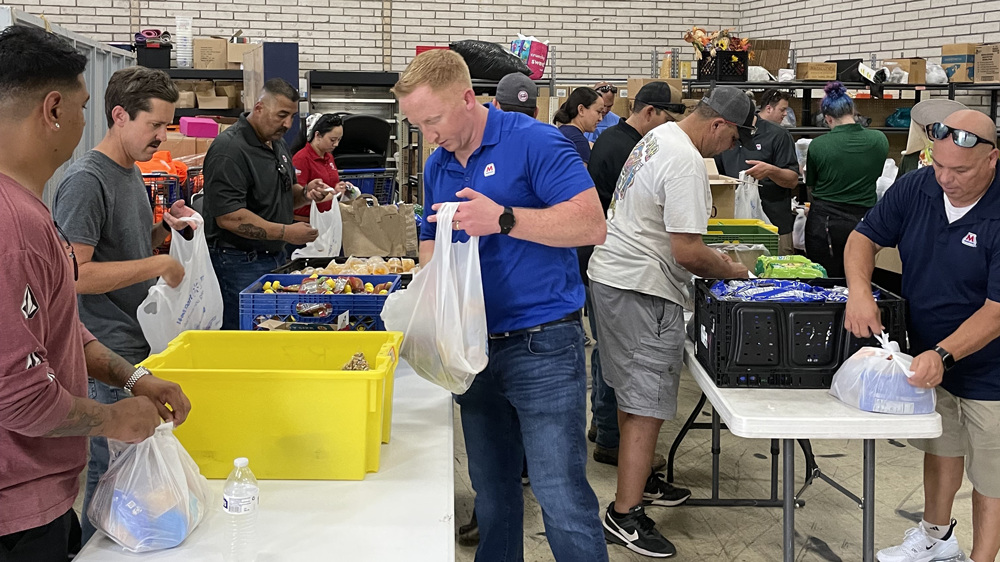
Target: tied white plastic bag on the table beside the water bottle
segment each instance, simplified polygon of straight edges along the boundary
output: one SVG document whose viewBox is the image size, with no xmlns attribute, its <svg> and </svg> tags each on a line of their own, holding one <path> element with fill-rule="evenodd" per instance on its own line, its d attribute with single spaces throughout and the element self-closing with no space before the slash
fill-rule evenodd
<svg viewBox="0 0 1000 562">
<path fill-rule="evenodd" d="M 201 523 L 212 490 L 198 465 L 164 423 L 136 445 L 109 440 L 112 459 L 87 516 L 129 552 L 173 548 Z"/>
</svg>

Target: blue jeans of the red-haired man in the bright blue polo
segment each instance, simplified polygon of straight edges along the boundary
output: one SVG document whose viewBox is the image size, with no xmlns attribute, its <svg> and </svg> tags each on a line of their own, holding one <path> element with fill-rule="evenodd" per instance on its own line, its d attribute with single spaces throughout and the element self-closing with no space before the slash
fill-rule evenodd
<svg viewBox="0 0 1000 562">
<path fill-rule="evenodd" d="M 476 491 L 476 562 L 524 559 L 525 456 L 559 562 L 606 562 L 597 496 L 587 482 L 583 326 L 567 322 L 490 340 L 490 362 L 456 401 Z"/>
</svg>

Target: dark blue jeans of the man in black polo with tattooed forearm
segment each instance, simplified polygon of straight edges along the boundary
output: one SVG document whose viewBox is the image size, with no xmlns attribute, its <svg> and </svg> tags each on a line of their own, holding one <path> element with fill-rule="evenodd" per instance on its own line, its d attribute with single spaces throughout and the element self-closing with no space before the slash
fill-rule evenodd
<svg viewBox="0 0 1000 562">
<path fill-rule="evenodd" d="M 240 329 L 240 291 L 285 265 L 285 252 L 258 254 L 229 248 L 209 248 L 212 267 L 222 289 L 222 329 Z"/>
</svg>

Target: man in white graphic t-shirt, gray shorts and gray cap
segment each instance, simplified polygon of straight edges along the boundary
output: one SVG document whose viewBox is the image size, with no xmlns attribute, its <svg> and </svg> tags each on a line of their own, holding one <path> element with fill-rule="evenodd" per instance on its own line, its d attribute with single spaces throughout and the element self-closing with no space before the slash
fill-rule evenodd
<svg viewBox="0 0 1000 562">
<path fill-rule="evenodd" d="M 693 275 L 747 277 L 746 267 L 702 241 L 712 211 L 703 159 L 737 139 L 748 143 L 754 109 L 740 90 L 717 87 L 683 121 L 650 131 L 622 169 L 607 241 L 590 261 L 601 368 L 618 397 L 621 430 L 618 493 L 604 534 L 645 556 L 676 550 L 644 506 L 680 505 L 691 496 L 649 469 L 660 426 L 677 413 L 688 285 Z"/>
</svg>

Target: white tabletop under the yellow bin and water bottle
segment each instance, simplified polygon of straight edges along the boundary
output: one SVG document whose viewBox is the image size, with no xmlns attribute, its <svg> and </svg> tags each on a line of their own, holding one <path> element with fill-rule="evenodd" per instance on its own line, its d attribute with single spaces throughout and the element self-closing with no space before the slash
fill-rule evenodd
<svg viewBox="0 0 1000 562">
<path fill-rule="evenodd" d="M 392 441 L 382 445 L 377 473 L 356 482 L 261 481 L 258 562 L 455 559 L 452 396 L 405 362 L 396 368 L 394 392 Z M 209 484 L 221 503 L 224 481 Z M 213 509 L 180 546 L 142 559 L 222 562 L 224 524 Z M 100 533 L 76 557 L 137 559 Z"/>
</svg>

